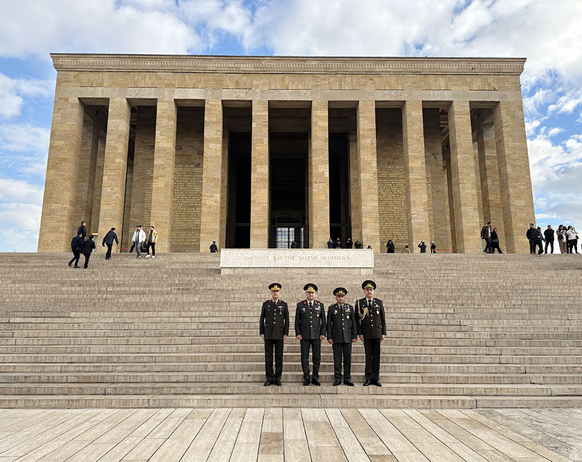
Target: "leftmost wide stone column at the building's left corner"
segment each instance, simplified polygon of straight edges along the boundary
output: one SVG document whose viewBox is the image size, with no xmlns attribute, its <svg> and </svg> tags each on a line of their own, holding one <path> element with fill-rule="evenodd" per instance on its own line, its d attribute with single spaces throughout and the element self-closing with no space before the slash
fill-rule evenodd
<svg viewBox="0 0 582 462">
<path fill-rule="evenodd" d="M 78 224 L 77 166 L 83 130 L 83 105 L 78 98 L 55 97 L 51 141 L 48 145 L 39 252 L 69 252 Z"/>
</svg>

